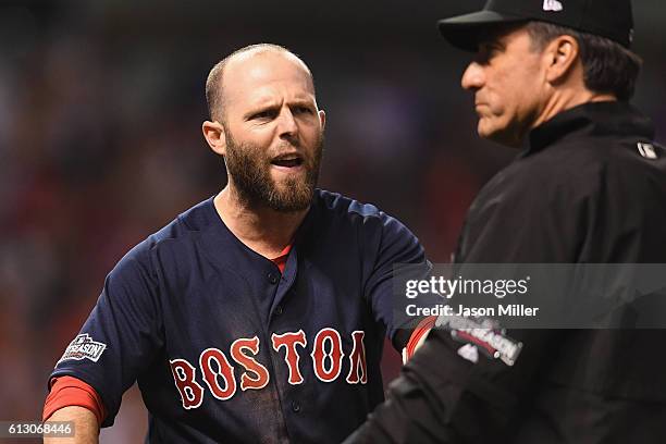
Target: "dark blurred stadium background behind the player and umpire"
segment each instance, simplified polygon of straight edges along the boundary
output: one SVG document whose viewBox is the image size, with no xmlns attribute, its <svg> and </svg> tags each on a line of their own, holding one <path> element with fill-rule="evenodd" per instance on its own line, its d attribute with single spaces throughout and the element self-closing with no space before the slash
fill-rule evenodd
<svg viewBox="0 0 666 444">
<path fill-rule="evenodd" d="M 328 113 L 321 186 L 397 215 L 447 261 L 474 194 L 515 155 L 476 137 L 458 87 L 468 57 L 435 28 L 482 3 L 1 1 L 0 420 L 40 418 L 47 375 L 106 273 L 223 186 L 200 134 L 203 85 L 238 47 L 303 57 Z M 634 15 L 634 102 L 664 141 L 666 10 L 636 0 Z M 384 368 L 397 373 L 397 354 Z M 145 429 L 133 388 L 102 443 Z"/>
</svg>

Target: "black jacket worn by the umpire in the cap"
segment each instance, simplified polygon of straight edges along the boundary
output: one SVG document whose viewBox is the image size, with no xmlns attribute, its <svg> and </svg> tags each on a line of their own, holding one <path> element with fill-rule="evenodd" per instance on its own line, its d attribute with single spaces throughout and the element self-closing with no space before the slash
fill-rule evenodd
<svg viewBox="0 0 666 444">
<path fill-rule="evenodd" d="M 480 192 L 458 263 L 666 263 L 666 150 L 625 102 L 533 130 Z M 666 267 L 666 266 L 665 266 Z M 510 330 L 513 367 L 433 330 L 348 442 L 662 443 L 666 330 Z"/>
</svg>

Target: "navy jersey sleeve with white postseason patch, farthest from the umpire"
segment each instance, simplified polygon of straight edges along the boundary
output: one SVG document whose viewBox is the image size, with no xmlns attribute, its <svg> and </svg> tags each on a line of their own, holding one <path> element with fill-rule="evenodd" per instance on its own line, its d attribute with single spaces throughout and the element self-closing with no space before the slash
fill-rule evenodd
<svg viewBox="0 0 666 444">
<path fill-rule="evenodd" d="M 109 273 L 97 304 L 49 377 L 71 375 L 89 384 L 112 425 L 123 393 L 163 344 L 157 278 L 143 244 Z"/>
</svg>

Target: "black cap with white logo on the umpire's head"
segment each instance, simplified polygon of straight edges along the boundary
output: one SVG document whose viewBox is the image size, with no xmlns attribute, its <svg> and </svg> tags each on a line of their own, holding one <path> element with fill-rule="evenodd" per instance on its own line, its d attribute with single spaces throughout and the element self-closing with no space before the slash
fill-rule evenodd
<svg viewBox="0 0 666 444">
<path fill-rule="evenodd" d="M 479 33 L 501 23 L 548 22 L 631 45 L 631 0 L 488 0 L 481 11 L 441 20 L 440 32 L 453 46 L 477 50 Z"/>
</svg>

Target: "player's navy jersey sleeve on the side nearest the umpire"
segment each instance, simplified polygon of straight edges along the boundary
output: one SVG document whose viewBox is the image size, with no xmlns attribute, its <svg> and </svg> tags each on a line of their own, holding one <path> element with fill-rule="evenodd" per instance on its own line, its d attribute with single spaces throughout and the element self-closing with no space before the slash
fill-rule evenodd
<svg viewBox="0 0 666 444">
<path fill-rule="evenodd" d="M 386 326 L 386 335 L 393 346 L 400 351 L 409 340 L 411 329 L 394 316 L 394 267 L 414 264 L 410 273 L 424 276 L 431 269 L 425 260 L 419 239 L 398 220 L 380 212 L 381 231 L 375 244 L 372 270 L 366 282 L 366 296 L 372 308 L 375 321 Z"/>
</svg>

